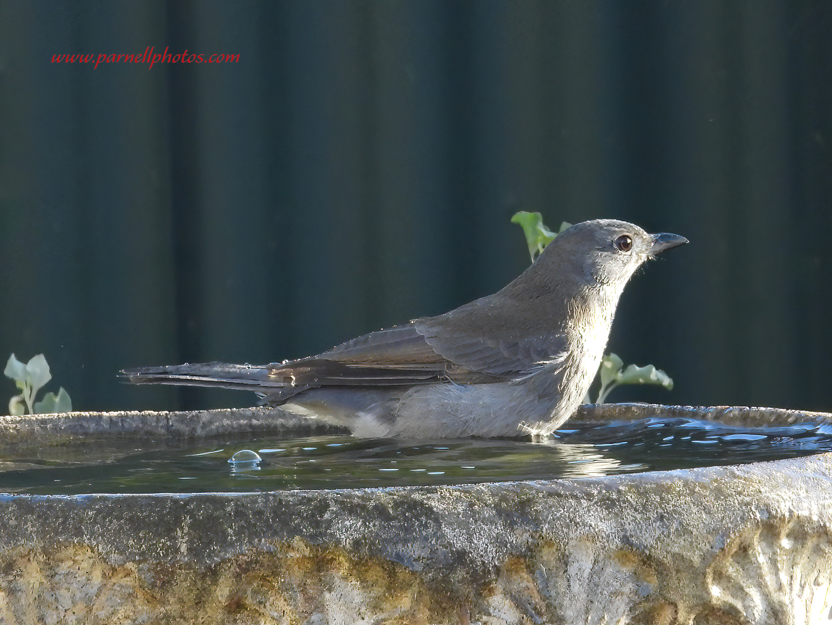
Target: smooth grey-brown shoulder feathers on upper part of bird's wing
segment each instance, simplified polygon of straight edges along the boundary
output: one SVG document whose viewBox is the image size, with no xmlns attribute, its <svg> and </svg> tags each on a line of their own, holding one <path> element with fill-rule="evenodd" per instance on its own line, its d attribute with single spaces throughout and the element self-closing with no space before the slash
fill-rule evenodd
<svg viewBox="0 0 832 625">
<path fill-rule="evenodd" d="M 567 338 L 561 332 L 523 325 L 518 322 L 522 315 L 505 307 L 472 309 L 418 319 L 413 326 L 438 355 L 483 374 L 519 378 L 566 360 Z"/>
</svg>

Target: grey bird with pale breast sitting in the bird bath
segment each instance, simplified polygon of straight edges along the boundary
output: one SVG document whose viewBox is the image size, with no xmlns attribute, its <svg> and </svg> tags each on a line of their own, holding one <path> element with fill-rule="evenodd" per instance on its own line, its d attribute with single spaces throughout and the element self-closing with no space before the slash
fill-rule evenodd
<svg viewBox="0 0 832 625">
<path fill-rule="evenodd" d="M 300 360 L 121 373 L 135 384 L 254 390 L 261 403 L 315 414 L 362 437 L 550 434 L 592 384 L 627 280 L 646 260 L 687 242 L 626 221 L 584 221 L 503 290 L 444 315 Z"/>
</svg>

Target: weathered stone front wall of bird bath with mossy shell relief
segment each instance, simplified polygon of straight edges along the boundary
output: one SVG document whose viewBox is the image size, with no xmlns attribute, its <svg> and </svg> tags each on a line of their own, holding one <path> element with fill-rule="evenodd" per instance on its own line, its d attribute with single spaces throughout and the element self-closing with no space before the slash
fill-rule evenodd
<svg viewBox="0 0 832 625">
<path fill-rule="evenodd" d="M 10 496 L 0 617 L 829 623 L 830 528 L 832 454 L 458 487 Z"/>
</svg>

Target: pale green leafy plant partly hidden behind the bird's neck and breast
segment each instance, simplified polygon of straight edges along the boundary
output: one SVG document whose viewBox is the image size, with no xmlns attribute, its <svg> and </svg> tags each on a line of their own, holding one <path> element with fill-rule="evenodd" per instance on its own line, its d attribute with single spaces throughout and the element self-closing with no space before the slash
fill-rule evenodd
<svg viewBox="0 0 832 625">
<path fill-rule="evenodd" d="M 561 229 L 555 233 L 546 227 L 540 213 L 528 213 L 526 211 L 515 213 L 512 217 L 512 223 L 519 224 L 522 227 L 526 235 L 528 253 L 532 256 L 532 262 L 534 262 L 536 255 L 540 254 L 547 245 L 555 240 L 557 235 L 572 226 L 572 224 L 563 221 Z M 671 377 L 661 369 L 656 369 L 653 365 L 646 365 L 645 367 L 627 365 L 627 368 L 622 371 L 623 367 L 624 361 L 617 355 L 610 353 L 603 357 L 599 372 L 601 375 L 601 390 L 598 392 L 596 404 L 602 404 L 607 399 L 610 391 L 621 384 L 658 384 L 664 386 L 667 390 L 673 389 Z M 583 403 L 590 403 L 588 392 Z"/>
</svg>

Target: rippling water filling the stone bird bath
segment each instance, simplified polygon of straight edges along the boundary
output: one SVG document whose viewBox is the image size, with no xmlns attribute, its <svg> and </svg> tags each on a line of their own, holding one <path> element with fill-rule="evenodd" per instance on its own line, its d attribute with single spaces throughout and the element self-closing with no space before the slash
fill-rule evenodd
<svg viewBox="0 0 832 625">
<path fill-rule="evenodd" d="M 731 427 L 696 419 L 567 423 L 543 440 L 280 439 L 198 443 L 83 438 L 0 452 L 0 492 L 206 493 L 587 478 L 832 451 L 832 426 Z"/>
</svg>

